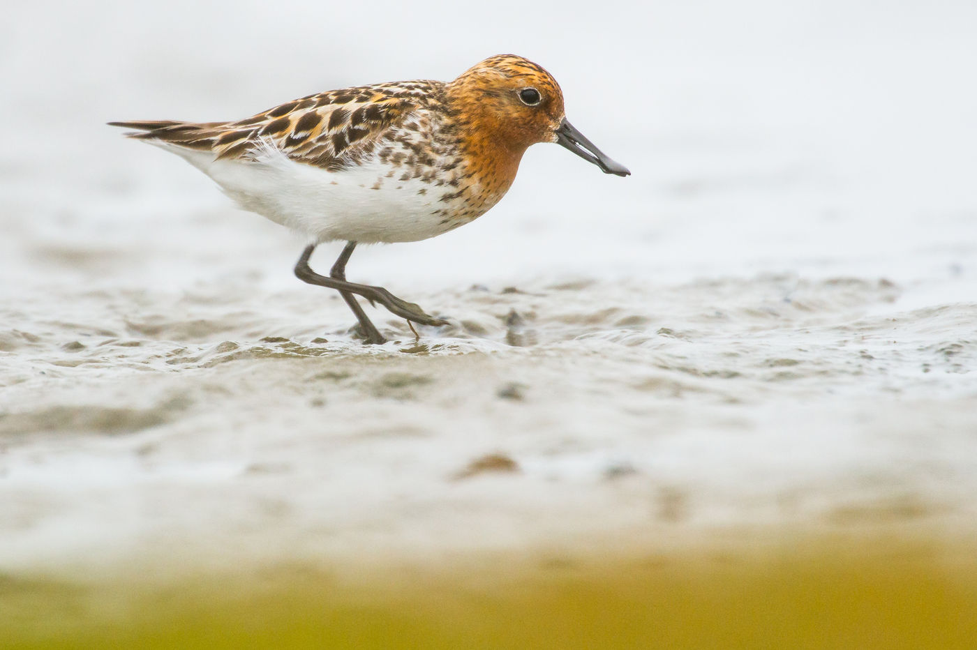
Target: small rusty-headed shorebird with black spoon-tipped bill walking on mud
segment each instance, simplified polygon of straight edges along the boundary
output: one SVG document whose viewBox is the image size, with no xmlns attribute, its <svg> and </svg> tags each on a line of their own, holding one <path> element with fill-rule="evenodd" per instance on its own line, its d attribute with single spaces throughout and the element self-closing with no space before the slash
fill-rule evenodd
<svg viewBox="0 0 977 650">
<path fill-rule="evenodd" d="M 536 142 L 562 144 L 607 174 L 630 174 L 567 121 L 553 76 L 515 55 L 481 61 L 450 82 L 327 91 L 234 122 L 109 124 L 179 154 L 241 208 L 306 235 L 295 274 L 339 291 L 369 344 L 386 339 L 356 296 L 408 325 L 447 321 L 383 287 L 348 281 L 357 244 L 427 239 L 484 215 Z M 329 275 L 320 275 L 309 259 L 335 240 L 347 244 Z"/>
</svg>

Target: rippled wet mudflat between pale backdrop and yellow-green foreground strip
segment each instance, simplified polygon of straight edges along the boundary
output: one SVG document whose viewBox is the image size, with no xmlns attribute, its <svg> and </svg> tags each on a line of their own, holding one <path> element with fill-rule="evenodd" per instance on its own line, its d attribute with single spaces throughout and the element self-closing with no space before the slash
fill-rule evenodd
<svg viewBox="0 0 977 650">
<path fill-rule="evenodd" d="M 2 339 L 4 557 L 967 526 L 977 305 L 907 294 L 792 274 L 475 286 L 411 295 L 452 324 L 415 341 L 381 319 L 379 346 L 301 286 L 21 304 L 5 317 L 32 326 Z"/>
</svg>

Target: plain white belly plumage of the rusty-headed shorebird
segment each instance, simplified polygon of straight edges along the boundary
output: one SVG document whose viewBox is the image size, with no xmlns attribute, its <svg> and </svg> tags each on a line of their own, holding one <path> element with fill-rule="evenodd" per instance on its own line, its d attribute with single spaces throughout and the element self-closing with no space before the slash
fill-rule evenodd
<svg viewBox="0 0 977 650">
<path fill-rule="evenodd" d="M 401 181 L 402 169 L 376 161 L 330 172 L 265 150 L 256 162 L 214 160 L 209 152 L 167 146 L 217 182 L 245 210 L 308 235 L 316 242 L 417 241 L 465 221 L 448 220 L 448 186 Z M 437 213 L 437 214 L 435 214 Z"/>
</svg>

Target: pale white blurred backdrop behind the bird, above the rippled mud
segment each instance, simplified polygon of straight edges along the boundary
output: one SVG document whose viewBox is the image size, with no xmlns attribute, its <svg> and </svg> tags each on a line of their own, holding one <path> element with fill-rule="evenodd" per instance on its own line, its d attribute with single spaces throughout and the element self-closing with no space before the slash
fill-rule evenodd
<svg viewBox="0 0 977 650">
<path fill-rule="evenodd" d="M 4 223 L 50 227 L 52 239 L 91 236 L 105 247 L 155 220 L 182 237 L 188 213 L 227 207 L 193 169 L 120 140 L 106 120 L 233 119 L 320 89 L 447 80 L 501 52 L 546 66 L 574 124 L 634 167 L 633 178 L 595 177 L 566 151 L 535 146 L 503 214 L 358 259 L 425 276 L 449 265 L 465 280 L 713 262 L 726 272 L 797 270 L 901 259 L 931 222 L 973 208 L 977 98 L 965 80 L 975 18 L 966 2 L 6 10 L 2 109 L 22 126 L 4 147 L 4 196 L 21 215 L 55 219 L 14 219 L 8 209 Z M 221 221 L 206 234 L 285 238 L 249 215 Z M 203 238 L 200 225 L 189 229 Z M 665 235 L 681 240 L 650 245 Z M 490 239 L 504 245 L 483 249 Z M 155 264 L 152 251 L 139 256 Z"/>
</svg>

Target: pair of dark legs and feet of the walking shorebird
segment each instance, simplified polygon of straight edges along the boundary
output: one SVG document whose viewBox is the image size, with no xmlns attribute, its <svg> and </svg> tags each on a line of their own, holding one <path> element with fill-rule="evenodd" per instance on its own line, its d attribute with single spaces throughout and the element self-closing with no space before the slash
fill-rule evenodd
<svg viewBox="0 0 977 650">
<path fill-rule="evenodd" d="M 366 317 L 366 314 L 363 312 L 359 303 L 357 303 L 353 294 L 362 296 L 371 303 L 379 303 L 385 306 L 391 313 L 416 323 L 423 325 L 447 324 L 446 320 L 426 314 L 418 305 L 401 300 L 383 287 L 348 282 L 346 280 L 346 263 L 349 261 L 350 256 L 353 255 L 353 249 L 356 248 L 356 245 L 357 243 L 355 241 L 351 241 L 346 245 L 346 248 L 339 255 L 339 259 L 336 260 L 336 264 L 333 264 L 330 277 L 326 277 L 319 275 L 319 273 L 309 267 L 309 258 L 312 257 L 312 252 L 316 250 L 316 245 L 311 244 L 306 247 L 299 261 L 295 264 L 295 275 L 303 282 L 318 284 L 321 287 L 337 290 L 360 320 L 360 325 L 366 334 L 366 340 L 371 344 L 385 343 L 385 340 L 373 326 L 373 323 L 369 321 L 369 318 Z"/>
</svg>

